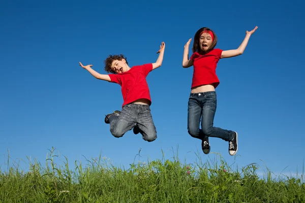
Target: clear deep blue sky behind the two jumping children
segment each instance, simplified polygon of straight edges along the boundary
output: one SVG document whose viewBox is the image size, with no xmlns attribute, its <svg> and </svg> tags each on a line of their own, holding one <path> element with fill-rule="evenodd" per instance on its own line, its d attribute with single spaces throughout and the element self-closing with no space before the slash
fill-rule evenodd
<svg viewBox="0 0 305 203">
<path fill-rule="evenodd" d="M 102 3 L 103 2 L 103 3 Z M 275 173 L 301 170 L 305 153 L 301 1 L 111 1 L 6 2 L 0 8 L 0 166 L 26 156 L 45 162 L 55 147 L 73 163 L 99 156 L 129 166 L 141 159 L 170 158 L 178 146 L 187 162 L 203 161 L 201 142 L 189 136 L 187 108 L 193 69 L 181 66 L 185 43 L 207 26 L 217 48 L 238 48 L 246 30 L 258 29 L 245 52 L 221 59 L 214 124 L 236 130 L 238 156 L 228 143 L 210 139 L 211 152 L 238 167 L 264 163 Z M 104 115 L 120 110 L 120 86 L 100 81 L 83 64 L 104 72 L 109 54 L 124 54 L 130 66 L 155 62 L 166 44 L 162 66 L 147 77 L 158 139 L 148 143 L 129 131 L 114 138 Z M 191 43 L 192 46 L 192 43 Z M 191 50 L 190 50 L 191 54 Z M 263 161 L 263 162 L 262 162 Z M 27 162 L 27 161 L 26 161 Z M 21 161 L 26 170 L 27 164 Z"/>
</svg>

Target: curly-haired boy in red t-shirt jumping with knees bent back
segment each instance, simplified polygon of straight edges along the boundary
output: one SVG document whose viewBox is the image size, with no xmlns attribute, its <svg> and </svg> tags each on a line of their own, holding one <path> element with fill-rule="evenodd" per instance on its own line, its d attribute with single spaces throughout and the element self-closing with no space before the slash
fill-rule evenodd
<svg viewBox="0 0 305 203">
<path fill-rule="evenodd" d="M 108 75 L 99 74 L 91 67 L 93 65 L 80 66 L 86 69 L 95 78 L 117 83 L 121 86 L 124 99 L 122 110 L 114 111 L 105 117 L 105 123 L 110 124 L 110 132 L 120 138 L 133 128 L 135 134 L 139 132 L 145 141 L 152 142 L 157 139 L 157 130 L 150 114 L 151 98 L 146 82 L 146 76 L 162 65 L 165 43 L 162 42 L 157 53 L 159 57 L 155 63 L 136 65 L 129 67 L 124 55 L 110 55 L 105 60 L 105 71 Z"/>
</svg>

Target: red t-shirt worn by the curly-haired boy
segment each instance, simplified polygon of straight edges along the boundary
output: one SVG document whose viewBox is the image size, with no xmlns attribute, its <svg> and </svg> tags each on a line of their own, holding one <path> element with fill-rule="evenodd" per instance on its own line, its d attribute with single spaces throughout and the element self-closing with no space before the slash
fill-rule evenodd
<svg viewBox="0 0 305 203">
<path fill-rule="evenodd" d="M 130 104 L 133 101 L 146 98 L 150 101 L 151 98 L 149 88 L 146 82 L 146 76 L 153 70 L 153 64 L 133 66 L 128 72 L 120 74 L 109 74 L 110 80 L 121 86 L 121 91 L 124 99 L 124 105 Z"/>
</svg>

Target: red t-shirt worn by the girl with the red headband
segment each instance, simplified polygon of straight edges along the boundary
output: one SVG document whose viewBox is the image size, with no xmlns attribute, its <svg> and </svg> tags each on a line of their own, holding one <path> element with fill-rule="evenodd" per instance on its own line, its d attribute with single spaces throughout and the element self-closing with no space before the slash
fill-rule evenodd
<svg viewBox="0 0 305 203">
<path fill-rule="evenodd" d="M 192 87 L 200 85 L 219 85 L 219 79 L 216 75 L 217 63 L 221 57 L 221 49 L 213 49 L 207 54 L 195 52 L 191 56 L 193 61 L 194 73 Z"/>
</svg>

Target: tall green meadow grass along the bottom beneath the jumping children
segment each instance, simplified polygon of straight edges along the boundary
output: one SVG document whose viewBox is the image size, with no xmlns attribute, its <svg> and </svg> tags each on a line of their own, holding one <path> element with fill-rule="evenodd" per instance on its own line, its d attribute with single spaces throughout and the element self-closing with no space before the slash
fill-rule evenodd
<svg viewBox="0 0 305 203">
<path fill-rule="evenodd" d="M 27 172 L 18 164 L 0 170 L 0 202 L 305 202 L 303 174 L 272 178 L 266 168 L 259 178 L 255 163 L 233 170 L 220 155 L 195 164 L 163 156 L 128 170 L 101 156 L 71 170 L 67 158 L 55 163 L 54 149 L 47 156 L 44 167 L 29 161 Z"/>
</svg>

